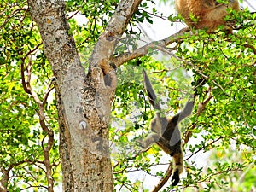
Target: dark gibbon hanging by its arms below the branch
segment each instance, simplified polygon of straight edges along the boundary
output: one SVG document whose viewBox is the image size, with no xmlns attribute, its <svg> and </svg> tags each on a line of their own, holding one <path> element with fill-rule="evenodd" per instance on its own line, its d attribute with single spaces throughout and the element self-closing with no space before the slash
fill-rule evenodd
<svg viewBox="0 0 256 192">
<path fill-rule="evenodd" d="M 181 147 L 181 135 L 177 125 L 192 113 L 195 104 L 195 94 L 189 96 L 189 101 L 180 113 L 177 113 L 172 118 L 168 118 L 161 112 L 160 104 L 157 101 L 152 84 L 144 70 L 143 79 L 149 102 L 154 107 L 156 114 L 150 123 L 152 132 L 144 140 L 138 140 L 137 142 L 144 149 L 149 148 L 153 143 L 157 143 L 166 154 L 172 156 L 172 186 L 175 186 L 179 182 L 179 175 L 183 172 L 183 149 Z"/>
</svg>

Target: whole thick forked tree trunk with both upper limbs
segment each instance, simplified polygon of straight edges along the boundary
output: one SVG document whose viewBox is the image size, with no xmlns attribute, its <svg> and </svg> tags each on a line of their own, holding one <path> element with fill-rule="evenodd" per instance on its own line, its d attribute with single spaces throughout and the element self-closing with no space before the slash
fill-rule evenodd
<svg viewBox="0 0 256 192">
<path fill-rule="evenodd" d="M 61 0 L 28 0 L 56 79 L 63 191 L 113 191 L 108 149 L 117 86 L 113 51 L 141 0 L 119 3 L 84 73 Z"/>
</svg>

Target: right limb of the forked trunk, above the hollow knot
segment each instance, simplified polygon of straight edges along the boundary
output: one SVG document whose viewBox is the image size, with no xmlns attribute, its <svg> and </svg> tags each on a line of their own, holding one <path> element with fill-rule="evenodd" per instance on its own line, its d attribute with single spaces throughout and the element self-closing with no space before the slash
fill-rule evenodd
<svg viewBox="0 0 256 192">
<path fill-rule="evenodd" d="M 106 75 L 113 71 L 113 66 L 117 66 L 112 61 L 113 51 L 119 38 L 125 32 L 131 16 L 141 2 L 142 0 L 123 0 L 119 3 L 111 20 L 108 22 L 105 32 L 96 42 L 93 54 L 90 57 L 90 69 L 92 67 L 100 67 L 104 75 Z M 113 84 L 113 89 L 115 89 L 114 86 L 115 84 Z"/>
</svg>

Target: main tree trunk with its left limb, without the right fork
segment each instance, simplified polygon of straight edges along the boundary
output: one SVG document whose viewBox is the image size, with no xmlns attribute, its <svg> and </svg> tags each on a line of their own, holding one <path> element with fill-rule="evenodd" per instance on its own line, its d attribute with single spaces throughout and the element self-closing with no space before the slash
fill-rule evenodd
<svg viewBox="0 0 256 192">
<path fill-rule="evenodd" d="M 55 75 L 59 104 L 62 104 L 58 109 L 63 190 L 113 191 L 108 153 L 110 98 L 103 97 L 108 89 L 102 90 L 102 72 L 96 69 L 90 78 L 86 77 L 68 32 L 62 1 L 32 0 L 29 6 Z"/>
</svg>

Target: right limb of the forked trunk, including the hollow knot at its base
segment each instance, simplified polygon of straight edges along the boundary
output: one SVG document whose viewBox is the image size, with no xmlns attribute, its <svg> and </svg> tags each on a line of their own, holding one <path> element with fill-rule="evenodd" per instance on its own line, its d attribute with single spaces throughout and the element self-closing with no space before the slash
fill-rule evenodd
<svg viewBox="0 0 256 192">
<path fill-rule="evenodd" d="M 102 32 L 90 56 L 89 76 L 94 89 L 101 90 L 103 97 L 113 101 L 117 86 L 115 73 L 116 64 L 113 62 L 113 52 L 116 44 L 134 15 L 142 0 L 122 0 L 115 10 L 105 31 Z M 109 106 L 110 108 L 110 106 Z M 107 111 L 106 111 L 107 112 Z"/>
</svg>

